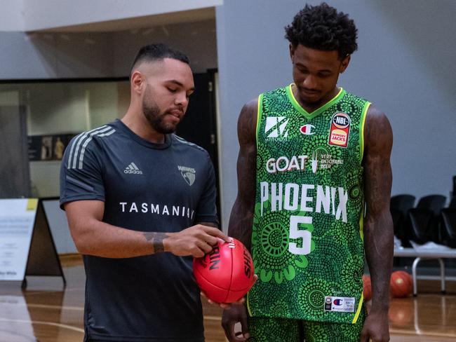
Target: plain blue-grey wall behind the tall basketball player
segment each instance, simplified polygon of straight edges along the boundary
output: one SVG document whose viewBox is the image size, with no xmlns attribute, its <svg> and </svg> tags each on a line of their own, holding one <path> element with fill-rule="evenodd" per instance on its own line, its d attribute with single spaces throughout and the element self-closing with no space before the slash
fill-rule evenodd
<svg viewBox="0 0 456 342">
<path fill-rule="evenodd" d="M 340 85 L 391 121 L 392 193 L 448 196 L 456 175 L 456 2 L 327 2 L 349 13 L 359 31 L 358 51 Z M 302 7 L 297 0 L 230 0 L 216 8 L 224 228 L 236 198 L 237 116 L 248 100 L 292 81 L 283 27 Z"/>
</svg>

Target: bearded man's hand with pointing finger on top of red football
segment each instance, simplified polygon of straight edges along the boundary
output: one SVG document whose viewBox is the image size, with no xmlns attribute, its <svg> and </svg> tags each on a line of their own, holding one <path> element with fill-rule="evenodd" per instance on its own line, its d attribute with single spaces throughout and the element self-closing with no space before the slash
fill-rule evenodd
<svg viewBox="0 0 456 342">
<path fill-rule="evenodd" d="M 192 255 L 192 257 L 201 258 L 204 254 L 209 253 L 213 246 L 217 245 L 217 238 L 226 242 L 232 241 L 218 228 L 196 224 L 196 226 L 186 228 L 178 233 L 166 233 L 166 238 L 163 239 L 163 247 L 165 252 L 171 252 L 179 257 Z"/>
</svg>

